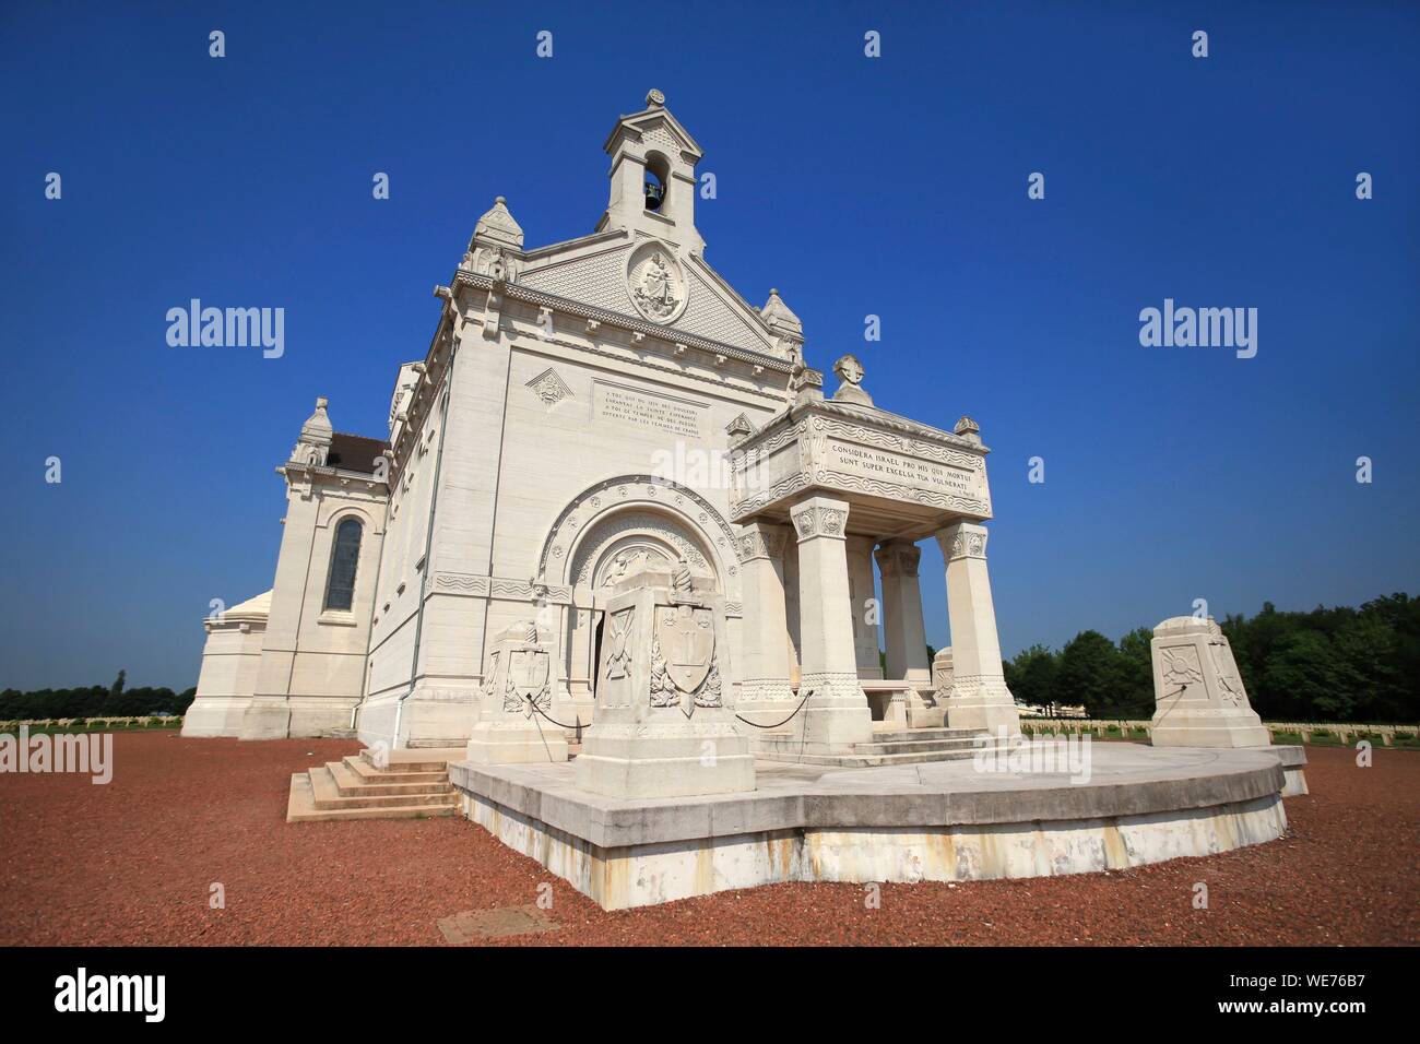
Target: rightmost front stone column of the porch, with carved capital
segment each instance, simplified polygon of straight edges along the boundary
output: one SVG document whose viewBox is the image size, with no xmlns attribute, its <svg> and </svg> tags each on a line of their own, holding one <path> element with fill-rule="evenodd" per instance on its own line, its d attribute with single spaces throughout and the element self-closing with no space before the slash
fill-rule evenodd
<svg viewBox="0 0 1420 1044">
<path fill-rule="evenodd" d="M 951 622 L 947 724 L 993 734 L 1004 727 L 1007 736 L 1014 737 L 1021 732 L 1021 719 L 1001 670 L 985 540 L 985 527 L 967 521 L 937 533 L 947 562 L 947 618 Z"/>
</svg>

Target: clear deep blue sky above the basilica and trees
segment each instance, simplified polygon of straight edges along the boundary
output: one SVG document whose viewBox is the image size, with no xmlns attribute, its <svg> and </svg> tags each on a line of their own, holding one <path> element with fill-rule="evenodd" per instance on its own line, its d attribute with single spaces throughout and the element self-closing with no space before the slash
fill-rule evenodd
<svg viewBox="0 0 1420 1044">
<path fill-rule="evenodd" d="M 209 601 L 271 582 L 314 398 L 383 435 L 479 214 L 589 232 L 650 87 L 719 180 L 707 260 L 880 406 L 980 422 L 1008 655 L 1420 592 L 1420 7 L 878 7 L 6 3 L 0 687 L 193 685 Z M 284 307 L 284 358 L 169 348 L 192 297 Z M 1258 308 L 1257 358 L 1142 348 L 1166 297 Z"/>
</svg>

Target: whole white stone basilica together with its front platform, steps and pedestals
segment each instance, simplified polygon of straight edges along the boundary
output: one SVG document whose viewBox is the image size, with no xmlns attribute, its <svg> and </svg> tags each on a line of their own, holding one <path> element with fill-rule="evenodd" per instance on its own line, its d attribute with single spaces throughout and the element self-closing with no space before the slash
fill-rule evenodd
<svg viewBox="0 0 1420 1044">
<path fill-rule="evenodd" d="M 890 412 L 855 355 L 825 396 L 780 291 L 755 307 L 707 260 L 703 151 L 659 91 L 604 149 L 585 234 L 528 246 L 504 196 L 474 222 L 388 433 L 317 401 L 277 469 L 271 589 L 206 622 L 185 734 L 356 736 L 375 750 L 293 777 L 290 820 L 457 808 L 609 909 L 1279 837 L 1269 750 L 985 767 L 1021 737 L 978 425 Z M 1167 621 L 1154 656 L 1156 741 L 1265 741 L 1216 625 Z"/>
</svg>

